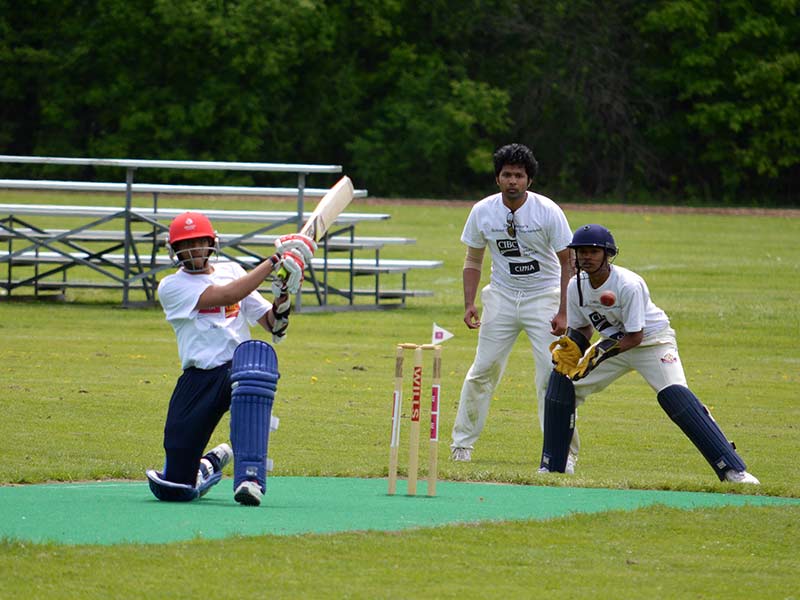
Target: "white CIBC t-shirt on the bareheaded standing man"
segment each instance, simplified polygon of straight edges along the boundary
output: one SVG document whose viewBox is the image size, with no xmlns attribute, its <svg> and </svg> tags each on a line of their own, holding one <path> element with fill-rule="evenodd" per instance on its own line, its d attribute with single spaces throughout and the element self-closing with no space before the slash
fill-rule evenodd
<svg viewBox="0 0 800 600">
<path fill-rule="evenodd" d="M 558 287 L 561 263 L 556 252 L 572 241 L 564 212 L 550 198 L 528 192 L 514 212 L 516 238 L 506 231 L 510 213 L 502 194 L 484 198 L 472 207 L 461 241 L 473 248 L 489 247 L 493 287 L 513 292 Z"/>
</svg>

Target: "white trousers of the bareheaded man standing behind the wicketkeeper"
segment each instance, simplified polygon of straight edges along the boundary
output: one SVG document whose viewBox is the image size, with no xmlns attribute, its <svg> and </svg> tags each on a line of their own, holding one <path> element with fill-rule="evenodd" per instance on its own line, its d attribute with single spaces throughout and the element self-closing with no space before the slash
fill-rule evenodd
<svg viewBox="0 0 800 600">
<path fill-rule="evenodd" d="M 544 395 L 552 371 L 550 320 L 558 312 L 560 289 L 543 292 L 510 292 L 487 285 L 481 290 L 481 327 L 478 348 L 464 384 L 453 425 L 452 448 L 473 448 L 489 414 L 489 403 L 505 371 L 508 355 L 520 332 L 528 336 L 535 362 L 539 426 L 544 424 Z M 577 450 L 577 430 L 573 436 Z"/>
</svg>

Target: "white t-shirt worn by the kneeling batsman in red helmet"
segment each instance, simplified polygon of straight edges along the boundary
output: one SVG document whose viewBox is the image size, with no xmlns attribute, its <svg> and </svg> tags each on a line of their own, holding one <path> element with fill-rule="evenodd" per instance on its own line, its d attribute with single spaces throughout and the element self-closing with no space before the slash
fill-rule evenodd
<svg viewBox="0 0 800 600">
<path fill-rule="evenodd" d="M 158 285 L 158 299 L 178 338 L 184 369 L 212 369 L 231 360 L 236 346 L 250 339 L 250 327 L 272 308 L 254 291 L 232 306 L 196 310 L 207 287 L 225 285 L 245 275 L 234 262 L 215 262 L 213 268 L 210 275 L 191 275 L 180 269 Z"/>
</svg>

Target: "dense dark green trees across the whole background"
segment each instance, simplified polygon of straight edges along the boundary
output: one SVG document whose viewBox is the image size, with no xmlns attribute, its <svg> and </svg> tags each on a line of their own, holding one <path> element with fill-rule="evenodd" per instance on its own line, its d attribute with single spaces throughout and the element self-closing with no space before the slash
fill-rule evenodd
<svg viewBox="0 0 800 600">
<path fill-rule="evenodd" d="M 788 204 L 798 6 L 0 0 L 0 152 L 333 163 L 454 197 L 522 141 L 561 193 Z"/>
</svg>

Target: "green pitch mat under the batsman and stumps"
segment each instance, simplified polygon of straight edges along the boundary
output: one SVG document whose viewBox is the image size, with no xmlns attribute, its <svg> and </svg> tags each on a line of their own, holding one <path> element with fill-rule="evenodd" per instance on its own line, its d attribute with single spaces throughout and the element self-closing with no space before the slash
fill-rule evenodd
<svg viewBox="0 0 800 600">
<path fill-rule="evenodd" d="M 441 481 L 438 495 L 386 494 L 385 479 L 272 477 L 260 507 L 233 500 L 230 478 L 187 504 L 159 502 L 147 483 L 101 482 L 0 487 L 0 537 L 58 544 L 160 544 L 235 535 L 399 531 L 452 523 L 550 519 L 572 513 L 800 504 L 738 494 L 607 490 Z M 418 492 L 425 494 L 420 482 Z"/>
</svg>

